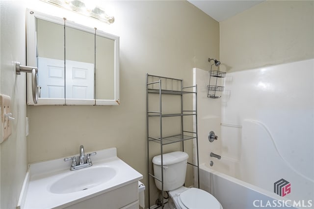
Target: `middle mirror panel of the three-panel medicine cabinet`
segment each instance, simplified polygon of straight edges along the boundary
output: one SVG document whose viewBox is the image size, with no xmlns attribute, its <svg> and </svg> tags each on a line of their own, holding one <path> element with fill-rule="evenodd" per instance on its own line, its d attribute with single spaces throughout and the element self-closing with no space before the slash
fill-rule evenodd
<svg viewBox="0 0 314 209">
<path fill-rule="evenodd" d="M 68 104 L 95 99 L 95 29 L 90 32 L 82 29 L 65 21 L 65 101 Z"/>
</svg>

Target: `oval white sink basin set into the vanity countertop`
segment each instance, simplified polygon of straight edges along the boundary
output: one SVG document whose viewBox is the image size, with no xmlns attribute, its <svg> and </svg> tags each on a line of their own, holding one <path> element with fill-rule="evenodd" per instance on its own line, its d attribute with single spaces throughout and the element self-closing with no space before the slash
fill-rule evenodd
<svg viewBox="0 0 314 209">
<path fill-rule="evenodd" d="M 49 190 L 56 194 L 78 192 L 106 183 L 115 175 L 116 170 L 108 166 L 81 169 L 52 183 Z"/>
</svg>

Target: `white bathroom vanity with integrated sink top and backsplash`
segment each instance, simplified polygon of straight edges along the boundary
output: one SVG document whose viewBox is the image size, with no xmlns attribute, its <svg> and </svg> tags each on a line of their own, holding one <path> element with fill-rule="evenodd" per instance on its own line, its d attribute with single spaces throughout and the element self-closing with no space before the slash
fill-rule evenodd
<svg viewBox="0 0 314 209">
<path fill-rule="evenodd" d="M 30 164 L 17 209 L 138 209 L 143 176 L 116 148 L 96 153 L 92 166 L 74 171 L 63 158 Z"/>
</svg>

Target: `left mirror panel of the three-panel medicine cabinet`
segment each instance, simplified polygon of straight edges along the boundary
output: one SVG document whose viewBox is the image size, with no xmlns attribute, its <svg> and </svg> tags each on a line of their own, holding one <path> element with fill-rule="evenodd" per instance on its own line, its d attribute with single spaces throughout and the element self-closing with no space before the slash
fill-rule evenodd
<svg viewBox="0 0 314 209">
<path fill-rule="evenodd" d="M 40 98 L 65 98 L 64 26 L 35 19 Z"/>
</svg>

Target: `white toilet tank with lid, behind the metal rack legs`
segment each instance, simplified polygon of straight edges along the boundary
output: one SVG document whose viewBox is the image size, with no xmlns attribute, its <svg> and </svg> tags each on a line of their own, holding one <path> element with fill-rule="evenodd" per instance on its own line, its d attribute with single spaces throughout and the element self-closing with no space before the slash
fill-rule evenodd
<svg viewBox="0 0 314 209">
<path fill-rule="evenodd" d="M 171 191 L 183 186 L 188 155 L 184 152 L 163 154 L 163 190 Z M 161 155 L 153 157 L 154 176 L 161 181 Z M 155 179 L 155 184 L 161 190 L 161 182 Z"/>
</svg>

